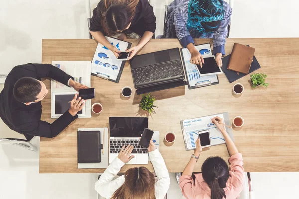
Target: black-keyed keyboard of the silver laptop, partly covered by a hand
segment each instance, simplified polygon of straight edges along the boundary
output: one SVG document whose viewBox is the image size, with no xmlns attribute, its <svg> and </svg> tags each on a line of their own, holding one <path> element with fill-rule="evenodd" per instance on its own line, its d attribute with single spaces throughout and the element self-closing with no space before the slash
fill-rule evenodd
<svg viewBox="0 0 299 199">
<path fill-rule="evenodd" d="M 119 153 L 125 145 L 134 146 L 132 153 L 148 153 L 148 149 L 139 145 L 139 140 L 110 140 L 110 153 Z"/>
</svg>

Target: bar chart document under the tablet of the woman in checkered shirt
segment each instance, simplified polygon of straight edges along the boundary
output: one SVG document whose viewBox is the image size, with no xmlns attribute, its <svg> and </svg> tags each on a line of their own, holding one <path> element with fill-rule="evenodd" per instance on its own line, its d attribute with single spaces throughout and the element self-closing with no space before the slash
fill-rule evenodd
<svg viewBox="0 0 299 199">
<path fill-rule="evenodd" d="M 212 50 L 211 44 L 202 44 L 195 46 L 200 54 L 202 54 L 203 58 L 212 57 Z M 192 64 L 190 62 L 191 53 L 187 48 L 181 48 L 181 54 L 183 58 L 183 64 L 186 71 L 186 76 L 188 80 L 188 87 L 189 89 L 195 89 L 199 87 L 209 86 L 218 84 L 218 77 L 217 75 L 209 75 L 209 76 L 200 76 L 197 69 L 196 64 Z"/>
</svg>

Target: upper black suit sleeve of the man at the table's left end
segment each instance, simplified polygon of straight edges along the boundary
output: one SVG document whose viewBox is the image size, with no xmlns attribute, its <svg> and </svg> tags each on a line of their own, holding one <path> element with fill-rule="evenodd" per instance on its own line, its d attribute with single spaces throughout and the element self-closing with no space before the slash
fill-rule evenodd
<svg viewBox="0 0 299 199">
<path fill-rule="evenodd" d="M 36 75 L 38 79 L 49 77 L 52 78 L 66 86 L 69 79 L 74 78 L 67 73 L 65 73 L 63 70 L 51 65 L 51 64 L 32 64 L 33 65 L 33 70 L 36 71 Z"/>
</svg>

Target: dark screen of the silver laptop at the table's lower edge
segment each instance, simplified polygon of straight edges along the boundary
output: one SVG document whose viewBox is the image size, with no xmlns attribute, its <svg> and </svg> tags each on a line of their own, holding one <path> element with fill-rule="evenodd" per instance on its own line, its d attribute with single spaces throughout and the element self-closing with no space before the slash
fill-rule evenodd
<svg viewBox="0 0 299 199">
<path fill-rule="evenodd" d="M 110 137 L 141 137 L 147 117 L 109 117 Z"/>
</svg>

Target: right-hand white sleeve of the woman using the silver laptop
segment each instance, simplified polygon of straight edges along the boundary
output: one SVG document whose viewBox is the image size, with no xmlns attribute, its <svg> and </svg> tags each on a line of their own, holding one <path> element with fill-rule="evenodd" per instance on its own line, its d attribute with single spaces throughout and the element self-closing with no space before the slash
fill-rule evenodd
<svg viewBox="0 0 299 199">
<path fill-rule="evenodd" d="M 156 149 L 149 152 L 149 158 L 158 177 L 155 184 L 156 199 L 164 199 L 170 186 L 170 177 L 161 153 Z"/>
</svg>

